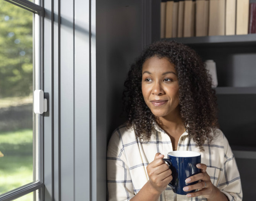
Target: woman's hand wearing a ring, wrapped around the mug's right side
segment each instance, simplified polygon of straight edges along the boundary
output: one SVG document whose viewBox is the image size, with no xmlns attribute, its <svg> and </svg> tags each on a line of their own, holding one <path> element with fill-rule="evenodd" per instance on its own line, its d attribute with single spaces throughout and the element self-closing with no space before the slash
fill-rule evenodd
<svg viewBox="0 0 256 201">
<path fill-rule="evenodd" d="M 206 172 L 206 168 L 207 168 L 206 164 L 199 163 L 196 165 L 196 167 L 201 169 L 201 173 L 189 177 L 188 179 L 185 180 L 185 182 L 191 183 L 191 182 L 198 181 L 200 179 L 201 179 L 201 182 L 198 182 L 191 186 L 186 186 L 183 188 L 183 190 L 191 191 L 191 190 L 196 190 L 196 189 L 200 189 L 200 188 L 202 188 L 202 189 L 199 191 L 196 191 L 194 193 L 189 193 L 186 196 L 189 198 L 193 198 L 196 196 L 203 195 L 207 199 L 213 198 L 216 195 L 217 190 L 216 190 L 216 187 L 212 184 L 210 176 Z M 205 184 L 206 184 L 206 187 L 205 187 Z"/>
</svg>

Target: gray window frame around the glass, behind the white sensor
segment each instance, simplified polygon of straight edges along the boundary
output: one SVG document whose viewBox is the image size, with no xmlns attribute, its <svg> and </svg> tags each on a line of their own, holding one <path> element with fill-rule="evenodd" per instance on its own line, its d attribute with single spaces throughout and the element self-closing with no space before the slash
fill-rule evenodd
<svg viewBox="0 0 256 201">
<path fill-rule="evenodd" d="M 42 32 L 43 32 L 43 6 L 42 0 L 35 0 L 37 3 L 28 0 L 5 0 L 33 13 L 33 91 L 42 89 Z M 34 103 L 34 100 L 33 100 Z M 31 192 L 34 193 L 34 201 L 43 200 L 43 116 L 33 112 L 33 180 L 19 188 L 0 195 L 0 201 L 11 201 Z M 38 194 L 38 195 L 37 195 Z"/>
</svg>

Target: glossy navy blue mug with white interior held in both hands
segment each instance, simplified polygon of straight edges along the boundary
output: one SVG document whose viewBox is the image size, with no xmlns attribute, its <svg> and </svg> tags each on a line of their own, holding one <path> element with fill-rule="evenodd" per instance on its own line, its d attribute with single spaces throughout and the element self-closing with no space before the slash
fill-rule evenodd
<svg viewBox="0 0 256 201">
<path fill-rule="evenodd" d="M 164 158 L 164 160 L 172 170 L 172 181 L 168 184 L 172 187 L 172 191 L 180 195 L 193 193 L 195 190 L 183 191 L 183 187 L 198 183 L 198 181 L 186 183 L 185 180 L 201 172 L 201 169 L 196 167 L 196 164 L 201 163 L 201 154 L 190 151 L 173 151 L 169 152 L 168 159 Z"/>
</svg>

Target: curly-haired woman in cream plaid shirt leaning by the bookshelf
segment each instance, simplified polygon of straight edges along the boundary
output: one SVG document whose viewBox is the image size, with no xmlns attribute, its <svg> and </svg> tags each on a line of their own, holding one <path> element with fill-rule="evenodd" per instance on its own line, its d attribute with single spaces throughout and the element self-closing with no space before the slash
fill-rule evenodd
<svg viewBox="0 0 256 201">
<path fill-rule="evenodd" d="M 202 162 L 201 173 L 186 179 L 199 182 L 183 188 L 197 191 L 177 200 L 242 200 L 214 94 L 203 62 L 185 45 L 156 42 L 138 57 L 125 81 L 128 121 L 113 132 L 107 150 L 110 201 L 173 201 L 172 171 L 162 160 L 173 150 L 199 152 Z"/>
</svg>

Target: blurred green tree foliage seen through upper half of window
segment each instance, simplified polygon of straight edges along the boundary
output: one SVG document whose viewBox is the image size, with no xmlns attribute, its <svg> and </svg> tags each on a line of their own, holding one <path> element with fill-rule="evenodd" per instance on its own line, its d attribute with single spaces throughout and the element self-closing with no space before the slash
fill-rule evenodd
<svg viewBox="0 0 256 201">
<path fill-rule="evenodd" d="M 0 0 L 0 98 L 32 93 L 32 15 Z"/>
</svg>

